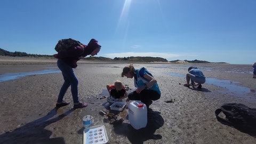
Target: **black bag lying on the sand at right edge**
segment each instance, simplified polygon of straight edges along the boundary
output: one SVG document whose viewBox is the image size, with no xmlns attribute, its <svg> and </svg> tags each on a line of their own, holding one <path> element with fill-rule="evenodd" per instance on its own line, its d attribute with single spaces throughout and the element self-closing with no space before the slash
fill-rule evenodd
<svg viewBox="0 0 256 144">
<path fill-rule="evenodd" d="M 226 115 L 226 119 L 219 117 L 221 111 Z M 256 138 L 255 108 L 249 108 L 242 103 L 225 103 L 220 109 L 215 110 L 215 115 L 222 124 L 234 127 Z"/>
</svg>

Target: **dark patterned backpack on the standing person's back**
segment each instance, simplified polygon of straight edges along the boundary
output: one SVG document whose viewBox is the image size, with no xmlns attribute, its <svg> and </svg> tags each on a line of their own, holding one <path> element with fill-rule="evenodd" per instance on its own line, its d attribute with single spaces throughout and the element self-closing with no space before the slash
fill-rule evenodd
<svg viewBox="0 0 256 144">
<path fill-rule="evenodd" d="M 67 51 L 71 46 L 77 46 L 80 45 L 82 49 L 84 50 L 84 46 L 79 41 L 76 41 L 72 38 L 66 38 L 66 39 L 60 39 L 55 46 L 55 51 L 61 52 L 61 51 Z"/>
</svg>

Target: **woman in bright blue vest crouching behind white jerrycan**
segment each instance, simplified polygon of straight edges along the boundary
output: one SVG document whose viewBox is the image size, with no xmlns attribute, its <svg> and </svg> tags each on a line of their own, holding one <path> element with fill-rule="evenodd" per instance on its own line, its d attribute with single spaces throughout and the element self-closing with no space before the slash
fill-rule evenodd
<svg viewBox="0 0 256 144">
<path fill-rule="evenodd" d="M 146 68 L 135 69 L 130 64 L 123 68 L 122 77 L 124 76 L 134 78 L 134 86 L 137 87 L 137 90 L 128 94 L 127 102 L 130 100 L 140 100 L 149 108 L 149 105 L 153 102 L 152 100 L 158 100 L 161 97 L 161 91 L 156 79 Z"/>
</svg>

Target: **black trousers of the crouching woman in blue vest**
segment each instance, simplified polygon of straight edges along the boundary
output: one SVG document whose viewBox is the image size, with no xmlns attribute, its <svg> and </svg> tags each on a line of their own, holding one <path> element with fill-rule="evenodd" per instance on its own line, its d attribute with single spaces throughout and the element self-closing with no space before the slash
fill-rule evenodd
<svg viewBox="0 0 256 144">
<path fill-rule="evenodd" d="M 130 100 L 140 100 L 146 105 L 150 100 L 158 100 L 160 97 L 161 95 L 153 90 L 142 90 L 140 93 L 133 91 L 128 94 Z"/>
</svg>

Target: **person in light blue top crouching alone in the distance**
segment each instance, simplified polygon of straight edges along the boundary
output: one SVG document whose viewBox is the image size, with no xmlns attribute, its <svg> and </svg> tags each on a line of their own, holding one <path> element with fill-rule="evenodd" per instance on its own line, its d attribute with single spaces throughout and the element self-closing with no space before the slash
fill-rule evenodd
<svg viewBox="0 0 256 144">
<path fill-rule="evenodd" d="M 184 84 L 184 86 L 189 87 L 189 81 L 191 79 L 191 84 L 192 86 L 195 86 L 195 82 L 198 85 L 198 89 L 201 89 L 202 84 L 205 83 L 205 76 L 203 74 L 203 72 L 198 69 L 197 67 L 189 67 L 188 68 L 188 73 L 186 75 L 186 80 L 187 80 L 187 84 Z"/>
</svg>

